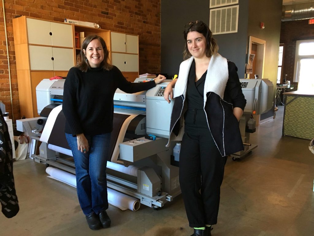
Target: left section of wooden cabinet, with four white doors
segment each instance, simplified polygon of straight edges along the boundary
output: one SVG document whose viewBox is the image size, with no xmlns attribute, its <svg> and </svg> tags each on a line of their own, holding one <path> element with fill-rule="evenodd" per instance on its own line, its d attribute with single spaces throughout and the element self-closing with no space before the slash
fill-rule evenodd
<svg viewBox="0 0 314 236">
<path fill-rule="evenodd" d="M 38 117 L 36 86 L 66 76 L 74 64 L 73 26 L 26 16 L 13 19 L 20 114 Z"/>
</svg>

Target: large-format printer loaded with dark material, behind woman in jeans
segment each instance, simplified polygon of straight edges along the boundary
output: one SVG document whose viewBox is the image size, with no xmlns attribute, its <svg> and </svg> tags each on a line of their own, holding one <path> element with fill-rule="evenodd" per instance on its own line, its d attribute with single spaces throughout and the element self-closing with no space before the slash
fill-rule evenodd
<svg viewBox="0 0 314 236">
<path fill-rule="evenodd" d="M 39 83 L 36 96 L 41 117 L 18 120 L 17 129 L 42 142 L 39 155 L 32 155 L 36 162 L 75 174 L 72 152 L 64 135 L 61 104 L 64 81 L 44 79 Z M 173 102 L 168 104 L 163 98 L 169 82 L 133 94 L 117 89 L 114 95 L 107 185 L 154 209 L 181 193 L 178 163 L 172 156 L 175 143 L 165 147 L 173 106 Z M 146 134 L 156 136 L 155 140 L 145 138 Z"/>
</svg>

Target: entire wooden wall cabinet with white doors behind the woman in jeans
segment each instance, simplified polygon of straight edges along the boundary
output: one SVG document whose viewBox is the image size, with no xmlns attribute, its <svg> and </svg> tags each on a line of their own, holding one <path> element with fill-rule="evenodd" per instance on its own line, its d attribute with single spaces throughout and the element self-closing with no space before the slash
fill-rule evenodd
<svg viewBox="0 0 314 236">
<path fill-rule="evenodd" d="M 138 77 L 137 35 L 26 16 L 13 19 L 13 33 L 21 117 L 39 116 L 36 86 L 46 78 L 67 76 L 78 63 L 79 40 L 90 34 L 105 40 L 109 61 L 128 81 Z"/>
</svg>

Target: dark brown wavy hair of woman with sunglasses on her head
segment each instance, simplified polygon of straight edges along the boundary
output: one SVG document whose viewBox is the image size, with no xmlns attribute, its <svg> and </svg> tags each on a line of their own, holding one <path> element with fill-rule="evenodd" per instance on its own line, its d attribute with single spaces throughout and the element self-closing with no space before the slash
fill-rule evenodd
<svg viewBox="0 0 314 236">
<path fill-rule="evenodd" d="M 190 26 L 190 27 L 189 27 Z M 192 55 L 187 48 L 187 34 L 191 31 L 197 31 L 201 33 L 206 39 L 206 56 L 211 57 L 212 55 L 218 52 L 218 45 L 216 40 L 213 38 L 213 33 L 210 31 L 208 26 L 203 21 L 190 22 L 186 25 L 185 30 L 183 31 L 185 46 L 183 51 L 183 59 L 186 60 Z"/>
</svg>

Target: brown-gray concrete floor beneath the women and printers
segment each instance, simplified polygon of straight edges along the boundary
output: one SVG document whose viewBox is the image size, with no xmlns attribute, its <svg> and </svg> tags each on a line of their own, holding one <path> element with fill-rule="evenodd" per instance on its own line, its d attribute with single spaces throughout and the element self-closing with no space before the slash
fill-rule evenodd
<svg viewBox="0 0 314 236">
<path fill-rule="evenodd" d="M 252 154 L 228 159 L 221 187 L 218 224 L 214 236 L 314 235 L 314 155 L 310 140 L 281 137 L 283 107 L 276 119 L 257 126 Z M 2 236 L 179 236 L 192 229 L 181 196 L 154 211 L 144 205 L 121 211 L 110 205 L 111 227 L 92 231 L 78 204 L 76 189 L 47 178 L 45 165 L 31 159 L 14 163 L 20 211 L 0 215 Z"/>
</svg>

